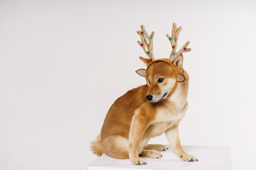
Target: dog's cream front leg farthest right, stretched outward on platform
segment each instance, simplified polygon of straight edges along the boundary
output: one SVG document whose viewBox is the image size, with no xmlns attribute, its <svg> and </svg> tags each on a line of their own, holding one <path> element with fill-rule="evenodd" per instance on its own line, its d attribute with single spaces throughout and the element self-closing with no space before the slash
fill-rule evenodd
<svg viewBox="0 0 256 170">
<path fill-rule="evenodd" d="M 178 133 L 178 125 L 165 131 L 166 137 L 173 146 L 174 152 L 184 161 L 198 161 L 195 156 L 188 155 L 180 144 L 180 137 Z"/>
</svg>

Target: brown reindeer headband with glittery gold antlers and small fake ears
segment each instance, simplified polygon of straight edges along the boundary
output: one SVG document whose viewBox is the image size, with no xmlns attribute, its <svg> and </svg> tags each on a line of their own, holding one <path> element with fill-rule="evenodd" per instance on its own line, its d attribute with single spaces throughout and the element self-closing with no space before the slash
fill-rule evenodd
<svg viewBox="0 0 256 170">
<path fill-rule="evenodd" d="M 137 34 L 141 37 L 141 42 L 138 41 L 138 44 L 142 47 L 142 49 L 144 50 L 146 55 L 149 57 L 150 63 L 148 64 L 146 70 L 145 69 L 139 69 L 139 70 L 136 71 L 136 73 L 145 77 L 146 72 L 147 72 L 148 68 L 150 67 L 150 65 L 152 63 L 162 61 L 162 62 L 167 62 L 168 64 L 170 64 L 173 67 L 173 69 L 175 71 L 175 74 L 176 74 L 176 83 L 175 83 L 175 86 L 174 86 L 173 90 L 168 95 L 168 97 L 175 90 L 175 88 L 177 86 L 177 82 L 184 82 L 185 81 L 184 75 L 178 73 L 177 68 L 173 64 L 173 61 L 175 60 L 175 58 L 177 58 L 178 55 L 191 51 L 191 48 L 187 48 L 187 46 L 189 45 L 189 41 L 188 41 L 182 46 L 182 48 L 178 52 L 176 52 L 178 38 L 179 38 L 179 34 L 180 34 L 181 30 L 182 30 L 182 26 L 177 28 L 176 23 L 174 22 L 171 37 L 170 37 L 170 35 L 166 34 L 166 37 L 170 40 L 171 46 L 172 46 L 172 51 L 171 51 L 171 54 L 170 54 L 170 57 L 169 57 L 168 60 L 166 60 L 166 59 L 157 59 L 157 60 L 155 60 L 155 58 L 154 58 L 154 54 L 153 54 L 153 38 L 154 38 L 154 35 L 155 35 L 154 31 L 152 31 L 152 33 L 149 35 L 143 25 L 141 25 L 141 31 L 137 31 Z M 178 77 L 180 75 L 182 75 L 182 77 L 183 77 L 182 81 L 178 80 Z"/>
</svg>

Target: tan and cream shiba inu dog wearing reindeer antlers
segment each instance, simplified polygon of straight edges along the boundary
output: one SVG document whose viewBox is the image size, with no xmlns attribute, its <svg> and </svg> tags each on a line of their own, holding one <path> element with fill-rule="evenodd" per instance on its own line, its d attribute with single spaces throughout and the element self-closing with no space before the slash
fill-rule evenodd
<svg viewBox="0 0 256 170">
<path fill-rule="evenodd" d="M 153 56 L 153 36 L 143 25 L 137 33 L 141 36 L 138 44 L 149 59 L 139 57 L 147 68 L 137 70 L 146 77 L 146 85 L 134 88 L 119 97 L 110 107 L 103 123 L 101 134 L 91 143 L 91 150 L 97 154 L 116 159 L 130 159 L 134 165 L 145 165 L 139 156 L 160 158 L 159 151 L 168 148 L 161 144 L 148 144 L 152 137 L 166 134 L 174 152 L 184 161 L 198 161 L 188 155 L 180 144 L 178 126 L 188 108 L 187 95 L 189 75 L 182 67 L 186 48 L 176 53 L 177 39 L 182 27 L 173 23 L 172 36 L 166 34 L 172 45 L 169 59 L 155 60 Z"/>
</svg>

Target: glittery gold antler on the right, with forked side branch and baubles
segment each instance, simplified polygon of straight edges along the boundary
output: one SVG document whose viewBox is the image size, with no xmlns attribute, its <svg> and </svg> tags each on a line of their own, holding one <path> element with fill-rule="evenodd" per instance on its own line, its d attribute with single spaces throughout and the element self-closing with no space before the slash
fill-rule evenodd
<svg viewBox="0 0 256 170">
<path fill-rule="evenodd" d="M 166 37 L 170 40 L 171 42 L 171 46 L 172 46 L 172 51 L 169 57 L 168 62 L 173 62 L 175 60 L 175 58 L 180 55 L 181 53 L 186 53 L 191 51 L 191 48 L 186 48 L 189 45 L 189 41 L 186 42 L 182 48 L 176 53 L 176 48 L 177 48 L 177 43 L 178 43 L 178 38 L 179 38 L 179 34 L 180 31 L 182 30 L 182 26 L 178 27 L 176 26 L 176 23 L 173 22 L 173 29 L 172 29 L 172 36 L 170 37 L 170 35 L 166 34 Z"/>
</svg>

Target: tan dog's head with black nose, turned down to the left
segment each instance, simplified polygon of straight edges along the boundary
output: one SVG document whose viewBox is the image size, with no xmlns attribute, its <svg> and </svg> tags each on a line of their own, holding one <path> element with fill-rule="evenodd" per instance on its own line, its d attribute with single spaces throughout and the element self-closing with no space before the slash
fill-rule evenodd
<svg viewBox="0 0 256 170">
<path fill-rule="evenodd" d="M 154 60 L 140 57 L 147 64 L 146 82 L 148 85 L 148 93 L 146 99 L 149 102 L 159 102 L 166 99 L 173 93 L 178 82 L 184 82 L 185 76 L 182 74 L 183 56 L 179 55 L 173 63 L 169 63 L 167 59 Z"/>
</svg>

